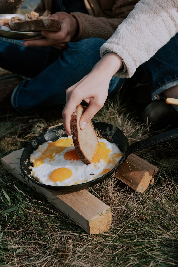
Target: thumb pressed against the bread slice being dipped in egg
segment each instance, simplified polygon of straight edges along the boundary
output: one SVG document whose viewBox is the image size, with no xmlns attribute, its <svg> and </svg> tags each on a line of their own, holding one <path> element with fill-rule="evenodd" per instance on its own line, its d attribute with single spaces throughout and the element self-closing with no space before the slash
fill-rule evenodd
<svg viewBox="0 0 178 267">
<path fill-rule="evenodd" d="M 104 104 L 103 104 L 104 105 Z M 80 118 L 80 128 L 83 130 L 86 125 L 91 121 L 91 119 L 94 117 L 94 115 L 103 107 L 102 104 L 98 103 L 90 103 L 88 108 L 85 110 L 85 112 L 82 114 Z"/>
</svg>

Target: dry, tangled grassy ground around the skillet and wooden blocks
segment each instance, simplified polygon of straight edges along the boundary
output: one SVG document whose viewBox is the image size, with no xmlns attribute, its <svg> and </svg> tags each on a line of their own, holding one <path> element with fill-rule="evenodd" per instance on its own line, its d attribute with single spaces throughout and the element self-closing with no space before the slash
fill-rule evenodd
<svg viewBox="0 0 178 267">
<path fill-rule="evenodd" d="M 26 117 L 10 105 L 0 106 L 0 112 L 0 158 L 61 122 L 58 108 Z M 130 103 L 120 96 L 95 119 L 121 128 L 130 144 L 155 134 L 132 117 Z M 160 169 L 145 194 L 112 178 L 89 188 L 113 214 L 111 229 L 97 235 L 85 233 L 0 165 L 0 267 L 178 266 L 177 153 L 178 140 L 137 152 Z"/>
</svg>

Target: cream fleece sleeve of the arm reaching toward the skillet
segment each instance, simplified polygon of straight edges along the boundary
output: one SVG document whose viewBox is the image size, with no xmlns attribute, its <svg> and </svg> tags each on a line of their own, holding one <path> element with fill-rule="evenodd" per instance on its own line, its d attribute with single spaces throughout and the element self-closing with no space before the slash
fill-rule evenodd
<svg viewBox="0 0 178 267">
<path fill-rule="evenodd" d="M 177 32 L 177 0 L 140 0 L 101 46 L 100 54 L 110 50 L 120 56 L 126 71 L 115 75 L 129 78 Z"/>
</svg>

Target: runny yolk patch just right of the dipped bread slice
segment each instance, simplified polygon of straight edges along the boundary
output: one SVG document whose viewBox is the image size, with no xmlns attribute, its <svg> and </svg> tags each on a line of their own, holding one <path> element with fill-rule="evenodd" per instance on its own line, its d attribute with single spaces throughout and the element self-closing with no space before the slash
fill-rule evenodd
<svg viewBox="0 0 178 267">
<path fill-rule="evenodd" d="M 92 162 L 99 162 L 101 159 L 104 159 L 106 162 L 108 160 L 108 155 L 111 152 L 109 148 L 107 148 L 104 142 L 99 142 L 100 146 L 96 148 L 96 153 L 92 158 Z"/>
</svg>

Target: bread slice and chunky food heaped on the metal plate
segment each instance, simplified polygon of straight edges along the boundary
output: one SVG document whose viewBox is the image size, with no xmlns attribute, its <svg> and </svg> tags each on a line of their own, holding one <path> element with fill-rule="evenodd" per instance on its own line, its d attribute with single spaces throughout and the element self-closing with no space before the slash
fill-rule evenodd
<svg viewBox="0 0 178 267">
<path fill-rule="evenodd" d="M 60 31 L 62 22 L 56 19 L 48 19 L 49 16 L 49 10 L 46 10 L 42 16 L 32 11 L 30 14 L 25 15 L 25 20 L 15 16 L 10 19 L 1 19 L 0 24 L 18 32 L 39 32 L 41 30 Z"/>
</svg>

